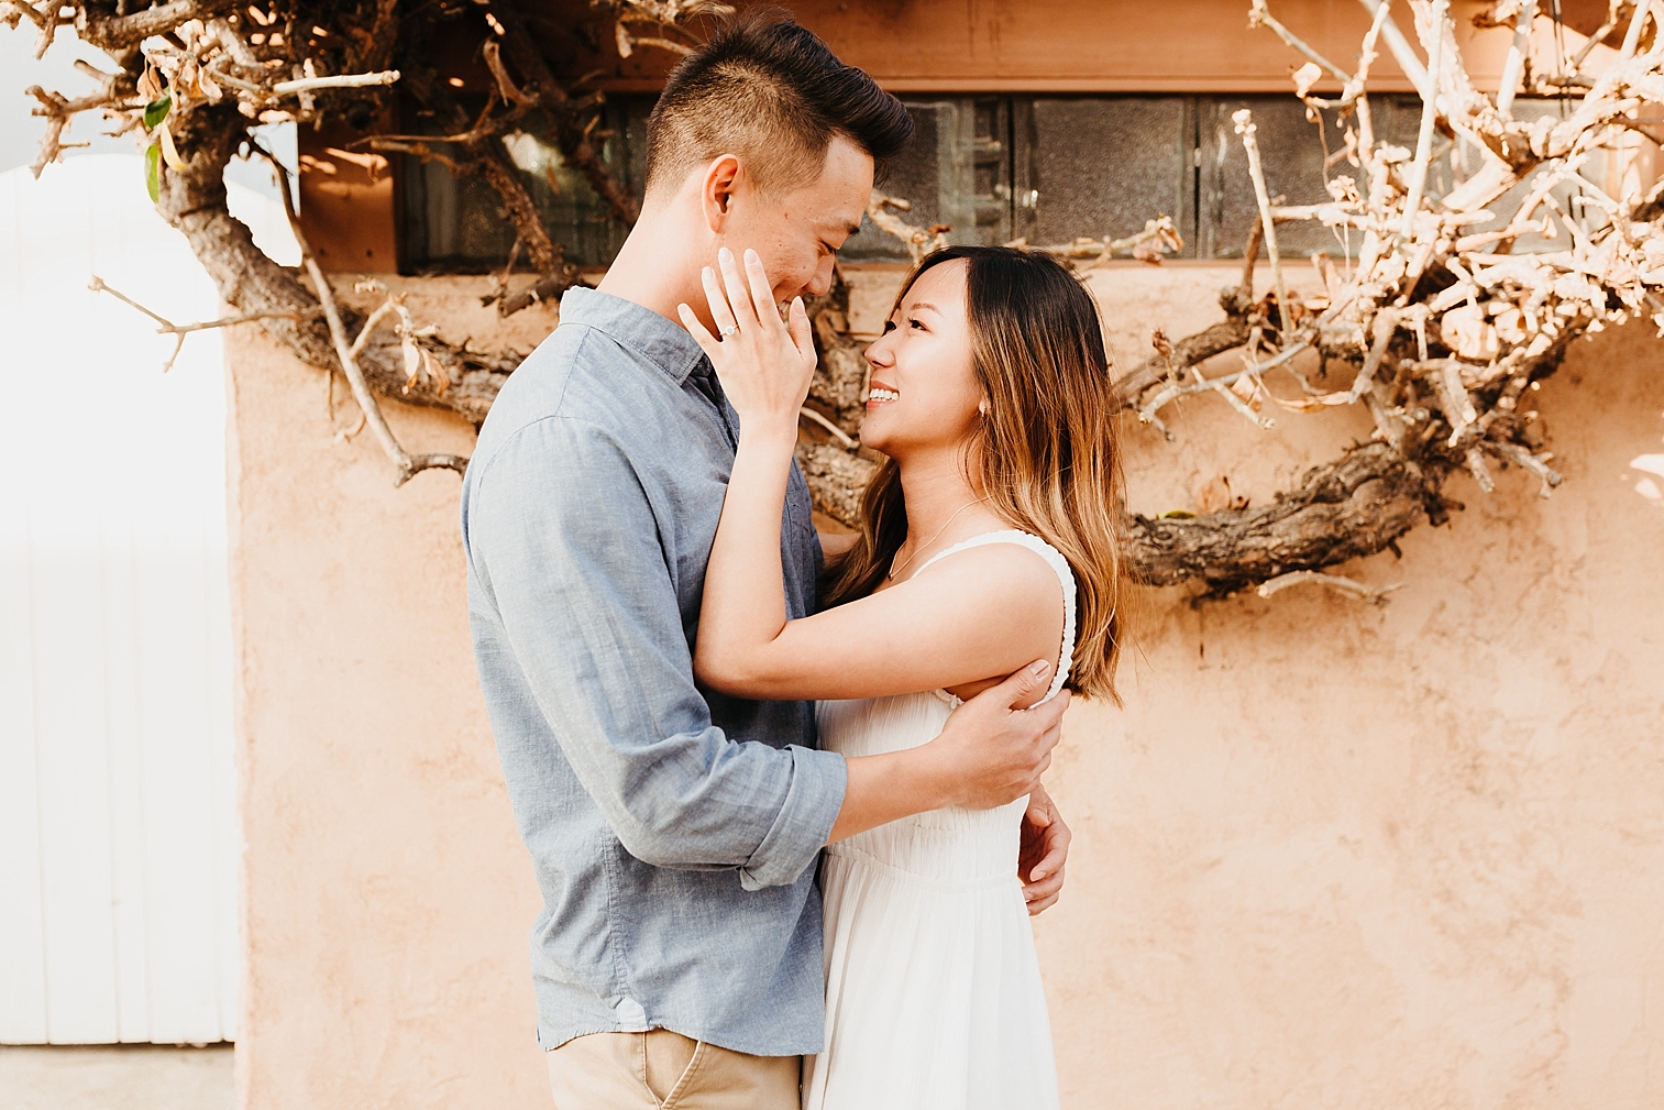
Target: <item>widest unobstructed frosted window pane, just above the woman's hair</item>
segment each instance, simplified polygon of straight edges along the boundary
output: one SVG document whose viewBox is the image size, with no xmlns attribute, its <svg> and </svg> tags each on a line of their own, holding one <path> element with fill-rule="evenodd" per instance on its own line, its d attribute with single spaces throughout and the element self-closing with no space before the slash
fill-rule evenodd
<svg viewBox="0 0 1664 1110">
<path fill-rule="evenodd" d="M 1033 245 L 1122 238 L 1171 216 L 1188 240 L 1191 105 L 1190 97 L 1020 102 L 1017 233 Z"/>
</svg>

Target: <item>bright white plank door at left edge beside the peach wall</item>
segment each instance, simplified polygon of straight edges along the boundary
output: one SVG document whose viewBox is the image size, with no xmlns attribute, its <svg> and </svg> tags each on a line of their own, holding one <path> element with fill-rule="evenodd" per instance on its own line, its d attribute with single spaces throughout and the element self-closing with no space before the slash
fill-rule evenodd
<svg viewBox="0 0 1664 1110">
<path fill-rule="evenodd" d="M 231 1040 L 221 343 L 93 273 L 218 315 L 136 156 L 0 175 L 0 1043 Z"/>
</svg>

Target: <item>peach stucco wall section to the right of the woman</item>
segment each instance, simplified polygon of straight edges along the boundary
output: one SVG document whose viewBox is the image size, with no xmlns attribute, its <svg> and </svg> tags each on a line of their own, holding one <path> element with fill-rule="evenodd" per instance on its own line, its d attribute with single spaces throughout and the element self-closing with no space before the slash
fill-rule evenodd
<svg viewBox="0 0 1664 1110">
<path fill-rule="evenodd" d="M 1185 278 L 1100 295 L 1176 323 Z M 1065 1105 L 1664 1105 L 1664 508 L 1629 469 L 1664 451 L 1664 344 L 1577 343 L 1534 404 L 1551 499 L 1458 478 L 1448 528 L 1341 567 L 1404 581 L 1383 607 L 1163 591 L 1127 711 L 1072 711 L 1072 889 L 1037 927 Z M 1132 499 L 1263 501 L 1358 416 L 1191 404 L 1178 444 L 1128 438 Z"/>
</svg>

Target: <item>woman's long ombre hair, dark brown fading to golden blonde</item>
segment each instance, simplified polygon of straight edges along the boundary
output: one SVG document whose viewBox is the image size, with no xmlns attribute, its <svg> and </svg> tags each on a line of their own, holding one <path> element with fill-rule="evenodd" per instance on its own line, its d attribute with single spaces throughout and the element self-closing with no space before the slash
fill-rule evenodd
<svg viewBox="0 0 1664 1110">
<path fill-rule="evenodd" d="M 948 246 L 925 256 L 895 306 L 920 275 L 950 261 L 967 266 L 972 364 L 988 399 L 967 443 L 967 476 L 1000 518 L 1068 559 L 1078 589 L 1068 686 L 1120 704 L 1122 453 L 1098 308 L 1060 261 L 1010 246 Z M 905 539 L 900 468 L 885 459 L 862 496 L 855 546 L 822 577 L 824 604 L 870 594 Z"/>
</svg>

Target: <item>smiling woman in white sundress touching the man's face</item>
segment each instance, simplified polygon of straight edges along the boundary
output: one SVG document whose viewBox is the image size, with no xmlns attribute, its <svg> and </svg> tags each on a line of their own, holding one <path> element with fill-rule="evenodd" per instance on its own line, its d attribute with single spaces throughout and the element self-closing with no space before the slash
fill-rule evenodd
<svg viewBox="0 0 1664 1110">
<path fill-rule="evenodd" d="M 867 349 L 862 443 L 887 456 L 860 531 L 824 538 L 824 607 L 785 619 L 780 509 L 815 356 L 745 253 L 706 293 L 722 341 L 682 321 L 740 416 L 694 656 L 724 694 L 819 699 L 824 747 L 934 739 L 960 699 L 1033 659 L 1045 697 L 1115 697 L 1120 468 L 1097 310 L 1055 260 L 925 258 Z M 1013 864 L 1025 800 L 857 832 L 822 864 L 827 1048 L 810 1110 L 1055 1107 L 1033 935 Z"/>
</svg>

